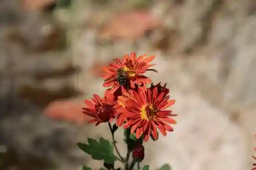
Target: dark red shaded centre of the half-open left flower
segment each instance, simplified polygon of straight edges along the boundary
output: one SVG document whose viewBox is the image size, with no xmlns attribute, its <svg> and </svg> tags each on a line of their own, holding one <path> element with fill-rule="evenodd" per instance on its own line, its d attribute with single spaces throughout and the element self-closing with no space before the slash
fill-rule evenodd
<svg viewBox="0 0 256 170">
<path fill-rule="evenodd" d="M 103 104 L 96 108 L 99 119 L 103 122 L 108 122 L 111 115 L 114 114 L 114 108 L 112 105 Z"/>
</svg>

